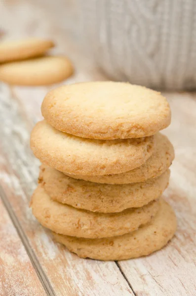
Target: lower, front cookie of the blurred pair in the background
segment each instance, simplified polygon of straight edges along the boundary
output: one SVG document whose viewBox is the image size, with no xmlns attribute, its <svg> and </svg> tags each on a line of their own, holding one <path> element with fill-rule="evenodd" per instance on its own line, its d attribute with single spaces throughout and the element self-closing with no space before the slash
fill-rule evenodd
<svg viewBox="0 0 196 296">
<path fill-rule="evenodd" d="M 68 58 L 44 56 L 0 65 L 0 80 L 16 85 L 47 85 L 63 81 L 73 71 Z"/>
</svg>

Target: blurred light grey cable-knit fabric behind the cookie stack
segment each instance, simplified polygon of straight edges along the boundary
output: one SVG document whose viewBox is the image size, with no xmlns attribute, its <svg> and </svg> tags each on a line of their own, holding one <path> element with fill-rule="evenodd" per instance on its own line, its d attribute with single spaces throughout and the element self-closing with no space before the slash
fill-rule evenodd
<svg viewBox="0 0 196 296">
<path fill-rule="evenodd" d="M 86 50 L 115 80 L 196 88 L 196 0 L 78 0 Z"/>
</svg>

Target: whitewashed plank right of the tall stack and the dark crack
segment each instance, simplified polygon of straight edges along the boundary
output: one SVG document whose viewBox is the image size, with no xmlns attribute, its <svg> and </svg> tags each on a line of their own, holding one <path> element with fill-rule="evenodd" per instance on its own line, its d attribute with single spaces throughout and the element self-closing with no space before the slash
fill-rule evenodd
<svg viewBox="0 0 196 296">
<path fill-rule="evenodd" d="M 196 295 L 196 94 L 166 94 L 172 124 L 164 133 L 175 148 L 165 198 L 175 209 L 178 229 L 161 251 L 119 262 L 138 296 Z"/>
</svg>

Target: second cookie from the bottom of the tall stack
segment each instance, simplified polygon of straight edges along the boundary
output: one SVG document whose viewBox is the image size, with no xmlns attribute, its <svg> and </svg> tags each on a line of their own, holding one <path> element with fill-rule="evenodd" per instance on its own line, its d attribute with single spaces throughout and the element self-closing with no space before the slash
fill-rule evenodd
<svg viewBox="0 0 196 296">
<path fill-rule="evenodd" d="M 31 207 L 41 225 L 56 233 L 98 238 L 121 235 L 149 222 L 157 214 L 159 202 L 152 201 L 142 208 L 120 213 L 93 213 L 53 201 L 39 185 L 33 194 Z"/>
</svg>

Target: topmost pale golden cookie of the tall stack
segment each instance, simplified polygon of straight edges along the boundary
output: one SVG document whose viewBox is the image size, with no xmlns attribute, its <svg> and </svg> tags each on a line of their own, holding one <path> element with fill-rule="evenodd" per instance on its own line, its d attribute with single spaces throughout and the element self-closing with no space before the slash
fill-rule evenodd
<svg viewBox="0 0 196 296">
<path fill-rule="evenodd" d="M 112 81 L 53 89 L 44 98 L 41 112 L 58 130 L 104 140 L 151 136 L 171 120 L 169 104 L 159 92 Z"/>
</svg>

